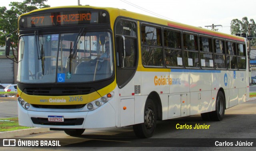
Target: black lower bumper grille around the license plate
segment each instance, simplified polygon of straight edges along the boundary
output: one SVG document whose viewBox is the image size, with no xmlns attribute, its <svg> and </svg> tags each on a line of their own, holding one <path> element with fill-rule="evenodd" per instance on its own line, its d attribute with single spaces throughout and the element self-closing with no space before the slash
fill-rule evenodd
<svg viewBox="0 0 256 151">
<path fill-rule="evenodd" d="M 64 118 L 64 122 L 48 122 L 48 118 L 31 118 L 34 124 L 48 126 L 78 126 L 82 125 L 84 118 Z"/>
</svg>

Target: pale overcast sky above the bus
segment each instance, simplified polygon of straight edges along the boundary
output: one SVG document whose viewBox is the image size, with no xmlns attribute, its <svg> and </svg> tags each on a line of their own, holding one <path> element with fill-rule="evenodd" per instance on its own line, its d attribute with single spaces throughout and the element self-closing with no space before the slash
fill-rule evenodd
<svg viewBox="0 0 256 151">
<path fill-rule="evenodd" d="M 10 9 L 10 2 L 22 1 L 4 0 L 1 5 Z M 45 4 L 51 7 L 72 6 L 78 5 L 78 0 L 48 0 Z M 80 0 L 80 4 L 126 9 L 154 17 L 164 16 L 167 20 L 203 28 L 212 24 L 222 25 L 217 27 L 218 31 L 229 34 L 233 19 L 247 17 L 256 21 L 256 0 Z"/>
</svg>

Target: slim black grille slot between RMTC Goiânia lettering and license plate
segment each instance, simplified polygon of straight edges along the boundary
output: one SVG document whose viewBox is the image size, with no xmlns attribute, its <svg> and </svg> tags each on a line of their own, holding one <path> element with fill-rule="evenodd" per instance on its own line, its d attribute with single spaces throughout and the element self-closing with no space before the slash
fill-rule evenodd
<svg viewBox="0 0 256 151">
<path fill-rule="evenodd" d="M 50 109 L 76 109 L 83 108 L 86 104 L 78 105 L 40 105 L 40 104 L 31 104 L 34 108 L 50 108 Z"/>
</svg>

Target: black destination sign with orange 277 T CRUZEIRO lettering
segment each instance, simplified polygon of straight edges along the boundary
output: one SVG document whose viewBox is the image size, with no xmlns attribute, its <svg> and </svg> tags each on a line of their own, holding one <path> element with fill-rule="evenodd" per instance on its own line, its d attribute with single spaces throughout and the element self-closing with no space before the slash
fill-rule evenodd
<svg viewBox="0 0 256 151">
<path fill-rule="evenodd" d="M 106 23 L 109 23 L 109 17 L 106 11 L 47 12 L 22 16 L 20 18 L 20 29 Z"/>
</svg>

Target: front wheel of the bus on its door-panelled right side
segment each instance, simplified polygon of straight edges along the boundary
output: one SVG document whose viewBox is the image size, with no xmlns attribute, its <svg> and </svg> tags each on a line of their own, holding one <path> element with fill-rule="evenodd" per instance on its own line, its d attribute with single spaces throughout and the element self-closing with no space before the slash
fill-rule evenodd
<svg viewBox="0 0 256 151">
<path fill-rule="evenodd" d="M 156 106 L 151 99 L 148 99 L 144 108 L 144 123 L 133 125 L 133 131 L 137 137 L 152 137 L 156 130 Z"/>
</svg>

